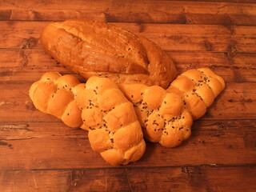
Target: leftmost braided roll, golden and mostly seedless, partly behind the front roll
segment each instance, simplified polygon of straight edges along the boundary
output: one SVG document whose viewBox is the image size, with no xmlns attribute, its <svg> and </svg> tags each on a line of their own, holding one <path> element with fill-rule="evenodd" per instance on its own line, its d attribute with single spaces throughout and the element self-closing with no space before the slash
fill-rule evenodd
<svg viewBox="0 0 256 192">
<path fill-rule="evenodd" d="M 81 110 L 74 101 L 74 86 L 79 81 L 72 75 L 48 72 L 30 86 L 30 98 L 43 113 L 52 114 L 71 127 L 82 125 Z"/>
</svg>

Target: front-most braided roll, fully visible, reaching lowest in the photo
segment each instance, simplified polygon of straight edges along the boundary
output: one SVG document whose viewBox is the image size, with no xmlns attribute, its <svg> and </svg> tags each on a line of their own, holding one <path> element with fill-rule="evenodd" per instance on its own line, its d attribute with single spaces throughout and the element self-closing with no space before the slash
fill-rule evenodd
<svg viewBox="0 0 256 192">
<path fill-rule="evenodd" d="M 129 102 L 109 78 L 92 77 L 76 101 L 82 128 L 89 130 L 93 150 L 113 166 L 138 161 L 145 150 L 141 126 Z"/>
</svg>

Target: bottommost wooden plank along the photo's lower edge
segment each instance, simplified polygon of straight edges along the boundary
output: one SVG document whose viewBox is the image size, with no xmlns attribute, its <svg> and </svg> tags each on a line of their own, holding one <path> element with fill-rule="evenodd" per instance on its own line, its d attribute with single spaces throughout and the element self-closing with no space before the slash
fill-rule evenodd
<svg viewBox="0 0 256 192">
<path fill-rule="evenodd" d="M 255 166 L 0 172 L 0 190 L 13 191 L 245 191 L 256 190 Z"/>
</svg>

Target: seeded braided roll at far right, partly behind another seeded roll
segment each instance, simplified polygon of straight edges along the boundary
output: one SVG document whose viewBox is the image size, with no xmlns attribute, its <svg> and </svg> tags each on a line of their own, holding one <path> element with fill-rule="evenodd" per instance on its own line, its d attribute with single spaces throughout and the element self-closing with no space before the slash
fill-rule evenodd
<svg viewBox="0 0 256 192">
<path fill-rule="evenodd" d="M 201 68 L 182 73 L 171 82 L 166 91 L 180 95 L 193 119 L 198 119 L 206 113 L 206 108 L 211 106 L 214 98 L 224 88 L 223 78 L 209 68 Z"/>
</svg>

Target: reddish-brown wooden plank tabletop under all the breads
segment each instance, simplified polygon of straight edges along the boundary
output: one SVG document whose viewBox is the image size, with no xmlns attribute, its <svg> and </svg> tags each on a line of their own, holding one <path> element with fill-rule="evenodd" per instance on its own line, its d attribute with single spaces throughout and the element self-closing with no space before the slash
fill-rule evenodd
<svg viewBox="0 0 256 192">
<path fill-rule="evenodd" d="M 208 66 L 226 89 L 181 146 L 147 143 L 112 167 L 85 130 L 36 110 L 47 71 L 72 74 L 42 50 L 51 21 L 90 18 L 158 43 L 178 73 Z M 0 191 L 256 191 L 256 1 L 0 1 Z"/>
</svg>

